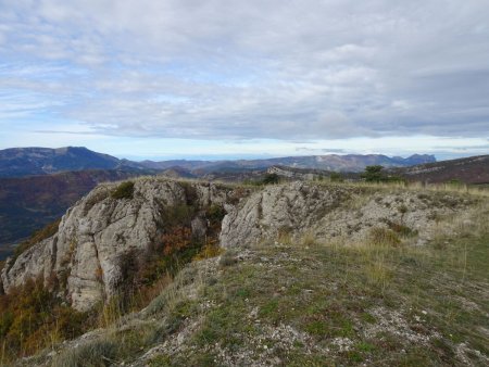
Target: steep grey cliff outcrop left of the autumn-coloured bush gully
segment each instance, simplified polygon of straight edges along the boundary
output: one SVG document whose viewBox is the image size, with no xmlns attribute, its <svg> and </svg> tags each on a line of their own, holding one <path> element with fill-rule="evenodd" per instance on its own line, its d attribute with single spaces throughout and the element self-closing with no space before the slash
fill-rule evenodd
<svg viewBox="0 0 489 367">
<path fill-rule="evenodd" d="M 113 295 L 124 279 L 120 258 L 142 254 L 161 235 L 162 211 L 174 205 L 205 207 L 224 204 L 230 189 L 213 184 L 138 179 L 133 199 L 113 199 L 116 184 L 101 185 L 70 208 L 59 231 L 7 264 L 1 274 L 5 292 L 28 278 L 55 275 L 66 283 L 66 298 L 77 309 L 88 309 Z M 205 223 L 192 227 L 204 233 Z"/>
</svg>

